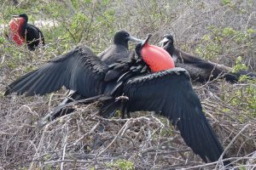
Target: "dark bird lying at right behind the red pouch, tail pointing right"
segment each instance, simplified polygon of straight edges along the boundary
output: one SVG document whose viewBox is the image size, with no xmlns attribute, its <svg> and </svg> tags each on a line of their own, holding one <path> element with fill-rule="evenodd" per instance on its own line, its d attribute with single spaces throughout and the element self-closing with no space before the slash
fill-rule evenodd
<svg viewBox="0 0 256 170">
<path fill-rule="evenodd" d="M 252 72 L 239 71 L 233 73 L 231 72 L 232 69 L 228 66 L 218 65 L 217 63 L 184 53 L 182 50 L 174 47 L 174 39 L 170 34 L 164 36 L 160 44 L 172 55 L 175 64 L 189 71 L 190 77 L 196 82 L 207 82 L 217 77 L 224 77 L 229 82 L 237 82 L 242 75 L 256 77 Z"/>
</svg>

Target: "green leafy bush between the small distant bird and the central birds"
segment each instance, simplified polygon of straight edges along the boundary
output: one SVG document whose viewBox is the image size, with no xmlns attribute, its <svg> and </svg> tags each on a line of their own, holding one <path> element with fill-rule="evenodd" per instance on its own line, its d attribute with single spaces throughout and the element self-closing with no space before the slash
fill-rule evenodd
<svg viewBox="0 0 256 170">
<path fill-rule="evenodd" d="M 108 4 L 108 0 L 101 3 L 73 0 L 71 4 L 51 2 L 46 7 L 41 4 L 40 8 L 60 23 L 51 34 L 69 43 L 79 43 L 90 41 L 101 30 L 113 32 L 115 11 Z"/>
</svg>

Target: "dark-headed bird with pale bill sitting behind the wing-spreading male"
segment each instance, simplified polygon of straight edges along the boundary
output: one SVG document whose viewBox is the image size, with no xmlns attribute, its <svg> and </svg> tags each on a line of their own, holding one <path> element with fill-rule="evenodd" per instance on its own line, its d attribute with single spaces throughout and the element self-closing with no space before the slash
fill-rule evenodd
<svg viewBox="0 0 256 170">
<path fill-rule="evenodd" d="M 102 53 L 98 54 L 98 56 L 107 65 L 111 65 L 119 59 L 127 59 L 132 53 L 129 51 L 128 48 L 129 41 L 142 42 L 143 40 L 132 37 L 131 34 L 127 31 L 117 31 L 113 36 L 113 45 L 104 50 Z M 67 99 L 64 99 L 61 102 L 61 105 L 66 105 L 67 103 L 70 103 L 74 100 L 86 98 L 88 98 L 88 96 L 83 96 L 82 94 L 79 94 L 78 92 L 72 90 L 67 95 Z M 49 119 L 54 120 L 58 116 L 67 115 L 73 111 L 73 108 L 61 109 L 60 111 L 54 110 L 54 112 L 52 112 L 49 116 Z"/>
</svg>

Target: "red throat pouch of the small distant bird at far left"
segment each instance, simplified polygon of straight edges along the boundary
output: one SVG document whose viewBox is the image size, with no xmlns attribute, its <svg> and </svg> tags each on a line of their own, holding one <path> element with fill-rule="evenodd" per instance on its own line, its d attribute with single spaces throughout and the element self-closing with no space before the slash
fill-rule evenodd
<svg viewBox="0 0 256 170">
<path fill-rule="evenodd" d="M 22 45 L 25 38 L 22 37 L 22 26 L 25 24 L 23 18 L 15 18 L 9 22 L 9 39 L 13 40 L 17 45 Z"/>
</svg>

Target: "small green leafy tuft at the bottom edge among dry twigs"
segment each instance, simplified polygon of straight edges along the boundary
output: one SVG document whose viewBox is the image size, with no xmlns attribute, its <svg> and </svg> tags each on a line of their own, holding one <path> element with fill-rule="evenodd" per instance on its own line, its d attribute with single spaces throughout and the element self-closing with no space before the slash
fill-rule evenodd
<svg viewBox="0 0 256 170">
<path fill-rule="evenodd" d="M 119 159 L 119 160 L 113 161 L 111 163 L 108 163 L 107 167 L 111 168 L 111 169 L 116 169 L 116 170 L 133 170 L 133 169 L 135 169 L 133 162 L 127 161 L 124 159 Z"/>
</svg>

